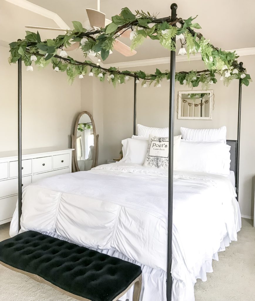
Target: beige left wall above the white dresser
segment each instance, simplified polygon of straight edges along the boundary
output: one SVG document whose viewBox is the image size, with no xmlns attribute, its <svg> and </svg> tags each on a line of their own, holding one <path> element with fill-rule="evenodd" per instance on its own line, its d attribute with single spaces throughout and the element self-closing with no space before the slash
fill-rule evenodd
<svg viewBox="0 0 255 301">
<path fill-rule="evenodd" d="M 0 152 L 17 150 L 17 64 L 9 65 L 9 49 L 0 47 Z M 23 149 L 70 144 L 80 111 L 80 82 L 68 85 L 65 73 L 51 66 L 39 71 L 22 68 Z"/>
</svg>

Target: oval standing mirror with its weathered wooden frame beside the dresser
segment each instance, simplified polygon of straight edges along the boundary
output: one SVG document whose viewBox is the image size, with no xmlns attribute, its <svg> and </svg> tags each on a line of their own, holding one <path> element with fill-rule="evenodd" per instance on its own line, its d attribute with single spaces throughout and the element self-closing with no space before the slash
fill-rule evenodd
<svg viewBox="0 0 255 301">
<path fill-rule="evenodd" d="M 96 128 L 93 117 L 89 112 L 81 112 L 76 120 L 74 148 L 76 171 L 90 170 L 96 166 Z"/>
</svg>

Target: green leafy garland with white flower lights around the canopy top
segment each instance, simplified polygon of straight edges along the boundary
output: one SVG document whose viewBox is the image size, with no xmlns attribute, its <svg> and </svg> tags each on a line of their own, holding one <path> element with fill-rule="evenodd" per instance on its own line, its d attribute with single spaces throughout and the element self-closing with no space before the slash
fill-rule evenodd
<svg viewBox="0 0 255 301">
<path fill-rule="evenodd" d="M 161 72 L 156 69 L 153 74 L 146 74 L 144 71 L 119 71 L 115 67 L 109 69 L 103 68 L 99 63 L 94 64 L 91 61 L 78 62 L 68 56 L 63 48 L 71 45 L 71 42 L 80 42 L 80 48 L 85 57 L 90 51 L 96 56 L 101 56 L 104 61 L 113 49 L 114 41 L 117 37 L 126 31 L 132 29 L 130 39 L 132 39 L 131 49 L 135 49 L 141 45 L 144 40 L 149 37 L 158 40 L 159 43 L 168 50 L 176 49 L 175 42 L 172 38 L 182 38 L 187 45 L 187 54 L 195 54 L 201 52 L 202 60 L 205 63 L 205 70 L 178 72 L 175 80 L 181 85 L 187 84 L 189 87 L 197 87 L 202 83 L 202 87 L 207 89 L 212 83 L 216 83 L 216 74 L 220 75 L 220 79 L 228 85 L 232 79 L 241 79 L 242 84 L 248 86 L 251 81 L 250 75 L 246 73 L 246 69 L 239 66 L 237 62 L 238 55 L 235 51 L 223 51 L 215 48 L 206 40 L 201 33 L 195 33 L 193 29 L 200 29 L 198 23 L 193 23 L 195 18 L 182 20 L 177 18 L 171 22 L 170 17 L 157 19 L 155 15 L 144 11 L 135 11 L 133 14 L 128 8 L 123 8 L 120 15 L 112 17 L 112 23 L 100 30 L 87 31 L 78 21 L 73 21 L 73 30 L 68 30 L 66 34 L 59 35 L 56 39 L 47 39 L 41 41 L 39 33 L 26 31 L 25 39 L 10 43 L 11 56 L 9 63 L 16 63 L 21 57 L 27 66 L 27 70 L 32 71 L 32 62 L 39 68 L 44 68 L 48 64 L 52 64 L 56 72 L 66 72 L 70 82 L 75 77 L 83 78 L 85 74 L 96 76 L 100 81 L 105 78 L 109 82 L 122 84 L 131 78 L 136 78 L 136 82 L 141 82 L 143 87 L 147 83 L 160 87 L 163 79 L 170 80 L 169 71 Z M 176 27 L 180 24 L 180 27 Z M 181 52 L 186 52 L 182 48 Z"/>
</svg>

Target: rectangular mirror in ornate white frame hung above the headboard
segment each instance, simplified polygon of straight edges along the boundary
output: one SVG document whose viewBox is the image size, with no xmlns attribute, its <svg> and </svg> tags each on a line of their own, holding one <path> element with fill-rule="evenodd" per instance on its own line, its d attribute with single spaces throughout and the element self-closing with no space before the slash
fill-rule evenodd
<svg viewBox="0 0 255 301">
<path fill-rule="evenodd" d="M 179 91 L 178 119 L 212 120 L 213 90 Z"/>
</svg>

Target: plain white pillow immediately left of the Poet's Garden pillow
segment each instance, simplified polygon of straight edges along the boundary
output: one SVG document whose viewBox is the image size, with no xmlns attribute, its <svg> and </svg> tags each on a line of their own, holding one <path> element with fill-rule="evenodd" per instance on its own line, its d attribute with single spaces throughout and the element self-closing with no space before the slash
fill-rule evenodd
<svg viewBox="0 0 255 301">
<path fill-rule="evenodd" d="M 147 152 L 148 139 L 131 139 L 127 138 L 121 141 L 123 147 L 123 158 L 121 163 L 143 164 Z"/>
</svg>

